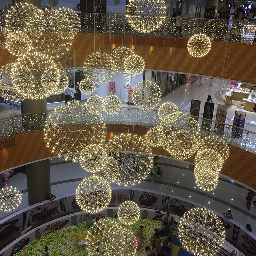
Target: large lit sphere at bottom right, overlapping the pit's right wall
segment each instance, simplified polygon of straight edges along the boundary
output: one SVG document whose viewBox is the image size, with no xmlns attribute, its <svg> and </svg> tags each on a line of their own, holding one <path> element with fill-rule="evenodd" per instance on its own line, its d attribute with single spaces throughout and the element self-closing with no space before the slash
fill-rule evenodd
<svg viewBox="0 0 256 256">
<path fill-rule="evenodd" d="M 197 256 L 217 255 L 226 238 L 221 219 L 212 211 L 199 207 L 183 214 L 178 235 L 184 249 Z"/>
</svg>

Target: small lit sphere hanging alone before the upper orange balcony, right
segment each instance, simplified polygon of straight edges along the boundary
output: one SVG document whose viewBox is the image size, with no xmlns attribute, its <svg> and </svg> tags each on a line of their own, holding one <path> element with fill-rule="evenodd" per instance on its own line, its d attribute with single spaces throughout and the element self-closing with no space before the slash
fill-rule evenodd
<svg viewBox="0 0 256 256">
<path fill-rule="evenodd" d="M 188 52 L 196 57 L 200 58 L 207 55 L 211 49 L 211 39 L 208 35 L 203 33 L 198 33 L 193 35 L 187 43 Z"/>
</svg>

